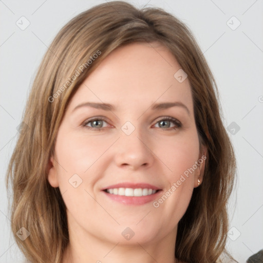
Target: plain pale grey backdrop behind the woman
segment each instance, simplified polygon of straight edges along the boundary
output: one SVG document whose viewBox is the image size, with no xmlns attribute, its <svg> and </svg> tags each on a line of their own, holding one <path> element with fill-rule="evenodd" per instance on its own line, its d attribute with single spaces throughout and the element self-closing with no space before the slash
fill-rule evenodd
<svg viewBox="0 0 263 263">
<path fill-rule="evenodd" d="M 263 2 L 128 2 L 160 7 L 180 18 L 214 73 L 238 165 L 228 249 L 245 262 L 263 248 Z M 73 16 L 101 3 L 105 1 L 0 1 L 0 263 L 22 259 L 10 231 L 5 175 L 36 69 L 58 31 Z"/>
</svg>

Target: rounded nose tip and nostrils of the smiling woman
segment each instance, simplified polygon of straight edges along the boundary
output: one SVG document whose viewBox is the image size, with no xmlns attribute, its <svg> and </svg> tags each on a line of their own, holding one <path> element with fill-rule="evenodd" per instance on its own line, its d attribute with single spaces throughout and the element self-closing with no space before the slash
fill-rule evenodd
<svg viewBox="0 0 263 263">
<path fill-rule="evenodd" d="M 117 142 L 115 162 L 118 167 L 138 170 L 150 167 L 154 163 L 151 143 L 145 140 L 136 130 L 131 135 L 122 134 Z"/>
</svg>

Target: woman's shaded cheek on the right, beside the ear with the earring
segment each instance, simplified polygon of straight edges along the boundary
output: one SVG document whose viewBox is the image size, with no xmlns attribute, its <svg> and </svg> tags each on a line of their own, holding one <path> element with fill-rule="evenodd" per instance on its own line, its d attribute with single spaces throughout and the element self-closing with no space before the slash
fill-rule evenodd
<svg viewBox="0 0 263 263">
<path fill-rule="evenodd" d="M 164 141 L 163 141 L 164 142 Z M 167 145 L 159 152 L 165 161 L 167 186 L 160 199 L 154 206 L 162 209 L 169 215 L 171 224 L 178 222 L 184 215 L 192 197 L 195 173 L 198 171 L 195 165 L 199 157 L 199 141 L 197 131 L 182 134 L 165 141 Z"/>
</svg>

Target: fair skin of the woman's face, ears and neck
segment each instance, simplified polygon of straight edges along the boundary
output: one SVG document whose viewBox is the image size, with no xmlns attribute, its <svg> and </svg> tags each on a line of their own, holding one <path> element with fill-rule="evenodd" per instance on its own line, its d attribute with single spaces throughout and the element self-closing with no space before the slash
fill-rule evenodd
<svg viewBox="0 0 263 263">
<path fill-rule="evenodd" d="M 174 78 L 180 68 L 158 42 L 128 44 L 111 52 L 72 97 L 48 174 L 67 207 L 70 242 L 63 263 L 175 262 L 177 224 L 198 187 L 197 179 L 202 180 L 204 161 L 158 208 L 153 202 L 112 201 L 101 189 L 145 182 L 162 189 L 158 200 L 206 153 L 205 148 L 199 152 L 190 83 Z M 73 110 L 86 102 L 110 103 L 115 109 Z M 151 109 L 161 102 L 181 102 L 189 113 L 181 106 Z M 84 123 L 93 117 L 105 118 L 101 130 L 101 123 Z M 165 117 L 182 126 L 167 121 L 162 127 Z M 127 121 L 135 127 L 130 135 L 121 129 Z M 73 174 L 82 179 L 77 188 L 68 181 Z M 129 240 L 122 235 L 127 227 L 135 233 Z"/>
</svg>

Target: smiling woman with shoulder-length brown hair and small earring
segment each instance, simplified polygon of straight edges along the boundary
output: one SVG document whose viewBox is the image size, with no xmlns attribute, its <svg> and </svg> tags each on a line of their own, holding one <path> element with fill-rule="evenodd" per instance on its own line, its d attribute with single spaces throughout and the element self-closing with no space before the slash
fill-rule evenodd
<svg viewBox="0 0 263 263">
<path fill-rule="evenodd" d="M 233 147 L 217 87 L 173 15 L 93 7 L 55 37 L 12 155 L 31 262 L 226 262 Z M 233 258 L 232 258 L 233 259 Z"/>
</svg>

